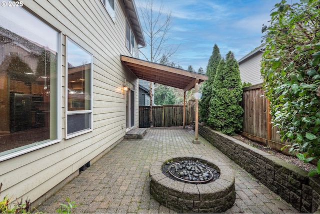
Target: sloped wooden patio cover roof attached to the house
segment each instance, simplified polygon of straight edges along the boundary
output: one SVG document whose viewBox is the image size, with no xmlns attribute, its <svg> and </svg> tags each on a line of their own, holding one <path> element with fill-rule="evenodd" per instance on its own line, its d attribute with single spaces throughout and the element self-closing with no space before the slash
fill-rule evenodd
<svg viewBox="0 0 320 214">
<path fill-rule="evenodd" d="M 201 83 L 208 79 L 208 76 L 204 74 L 123 55 L 121 55 L 121 61 L 139 79 L 183 89 L 184 92 L 192 89 L 196 83 Z"/>
</svg>

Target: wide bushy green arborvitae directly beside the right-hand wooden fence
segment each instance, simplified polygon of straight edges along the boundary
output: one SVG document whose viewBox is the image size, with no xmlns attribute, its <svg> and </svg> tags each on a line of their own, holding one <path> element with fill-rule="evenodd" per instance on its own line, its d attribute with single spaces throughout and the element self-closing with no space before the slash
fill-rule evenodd
<svg viewBox="0 0 320 214">
<path fill-rule="evenodd" d="M 208 124 L 227 135 L 234 135 L 242 127 L 242 88 L 239 66 L 233 53 L 221 60 L 213 82 L 213 97 L 210 100 Z"/>
</svg>

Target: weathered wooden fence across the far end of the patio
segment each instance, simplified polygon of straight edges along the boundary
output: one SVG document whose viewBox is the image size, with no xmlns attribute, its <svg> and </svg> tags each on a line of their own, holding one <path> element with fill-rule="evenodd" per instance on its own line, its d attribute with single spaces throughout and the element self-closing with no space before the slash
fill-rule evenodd
<svg viewBox="0 0 320 214">
<path fill-rule="evenodd" d="M 149 124 L 150 106 L 139 106 L 139 127 L 147 128 Z M 194 102 L 186 105 L 185 125 L 191 124 L 195 118 Z M 153 127 L 169 127 L 183 125 L 183 105 L 152 106 Z"/>
</svg>

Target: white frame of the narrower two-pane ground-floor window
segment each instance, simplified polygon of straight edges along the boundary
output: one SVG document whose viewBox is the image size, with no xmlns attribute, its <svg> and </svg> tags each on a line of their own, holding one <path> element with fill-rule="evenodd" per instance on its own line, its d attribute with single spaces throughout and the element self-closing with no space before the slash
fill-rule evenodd
<svg viewBox="0 0 320 214">
<path fill-rule="evenodd" d="M 91 66 L 90 66 L 90 110 L 79 110 L 79 111 L 68 111 L 67 109 L 67 103 L 68 103 L 68 68 L 67 66 L 65 66 L 65 139 L 70 139 L 72 137 L 76 137 L 88 132 L 93 131 L 93 55 L 88 52 L 87 50 L 85 50 L 82 46 L 80 46 L 78 43 L 74 42 L 71 38 L 69 38 L 68 36 L 65 37 L 65 65 L 68 64 L 68 56 L 67 56 L 67 46 L 68 46 L 68 40 L 72 43 L 74 43 L 76 46 L 78 46 L 78 48 L 82 49 L 83 51 L 85 51 L 87 54 L 89 54 L 91 56 Z M 72 115 L 72 114 L 86 114 L 86 113 L 90 113 L 90 128 L 88 129 L 84 129 L 72 134 L 68 134 L 68 127 L 67 127 L 67 115 Z"/>
</svg>

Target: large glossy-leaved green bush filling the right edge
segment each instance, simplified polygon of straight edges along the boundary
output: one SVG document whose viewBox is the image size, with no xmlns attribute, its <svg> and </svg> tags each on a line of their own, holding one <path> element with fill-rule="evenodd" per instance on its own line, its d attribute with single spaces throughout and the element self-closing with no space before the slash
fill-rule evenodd
<svg viewBox="0 0 320 214">
<path fill-rule="evenodd" d="M 320 174 L 320 2 L 275 5 L 262 55 L 263 88 L 270 114 L 289 151 L 304 162 L 317 159 Z"/>
</svg>

